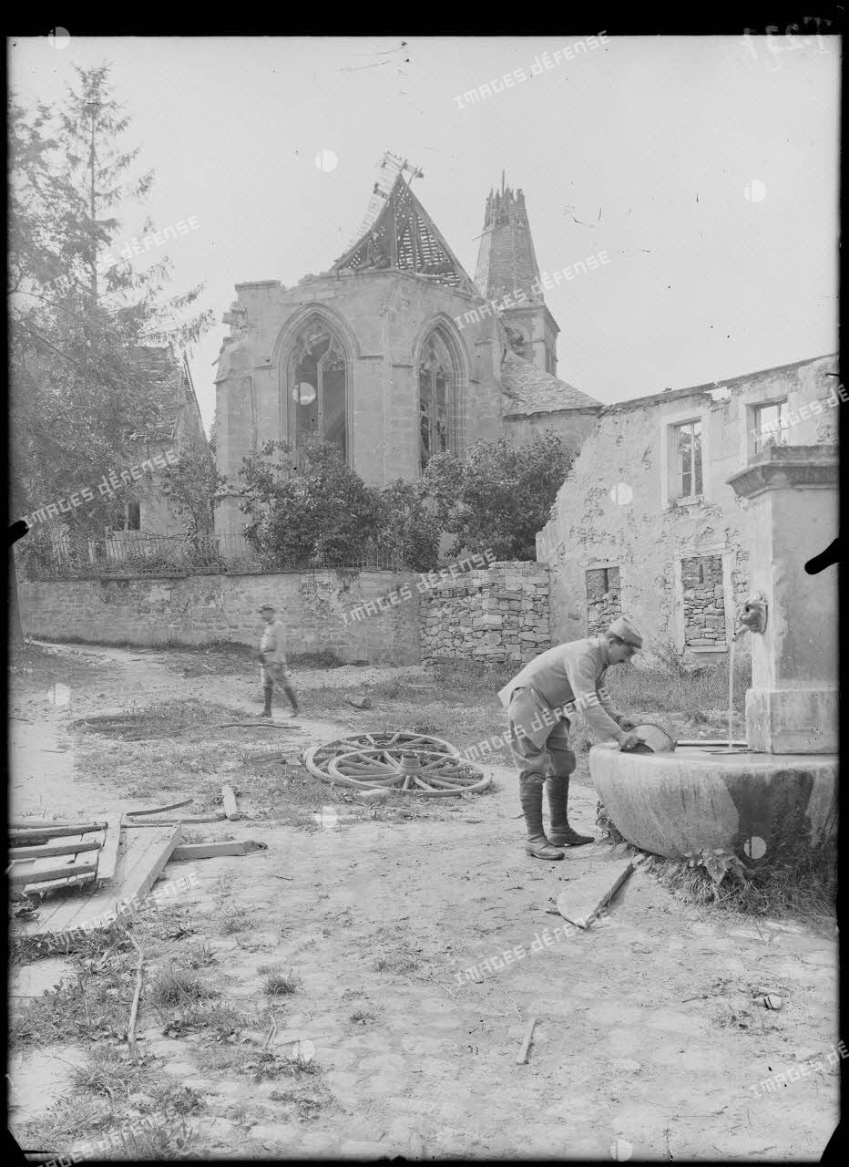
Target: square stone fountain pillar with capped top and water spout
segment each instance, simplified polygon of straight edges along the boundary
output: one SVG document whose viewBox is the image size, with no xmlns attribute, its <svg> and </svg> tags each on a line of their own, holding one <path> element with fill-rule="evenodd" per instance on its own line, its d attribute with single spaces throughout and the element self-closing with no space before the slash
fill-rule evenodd
<svg viewBox="0 0 849 1167">
<path fill-rule="evenodd" d="M 837 752 L 837 568 L 805 564 L 837 537 L 834 446 L 769 446 L 728 480 L 752 512 L 750 586 L 767 602 L 752 633 L 749 749 Z"/>
</svg>

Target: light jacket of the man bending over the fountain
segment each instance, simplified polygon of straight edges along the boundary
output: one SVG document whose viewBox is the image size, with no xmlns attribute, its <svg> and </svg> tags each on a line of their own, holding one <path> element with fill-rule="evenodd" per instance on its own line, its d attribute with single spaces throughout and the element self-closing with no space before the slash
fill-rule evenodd
<svg viewBox="0 0 849 1167">
<path fill-rule="evenodd" d="M 589 727 L 602 739 L 625 739 L 619 728 L 624 717 L 604 686 L 610 666 L 603 637 L 557 644 L 528 662 L 507 682 L 498 698 L 510 720 L 535 746 L 542 746 L 560 717 L 578 710 Z M 517 690 L 519 692 L 517 692 Z M 515 694 L 515 696 L 514 696 Z M 568 708 L 563 712 L 563 706 Z"/>
</svg>

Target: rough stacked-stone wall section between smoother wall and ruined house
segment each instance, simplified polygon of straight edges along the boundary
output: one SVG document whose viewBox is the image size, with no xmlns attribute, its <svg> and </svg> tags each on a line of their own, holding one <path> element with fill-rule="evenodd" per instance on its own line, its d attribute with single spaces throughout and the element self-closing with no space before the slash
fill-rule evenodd
<svg viewBox="0 0 849 1167">
<path fill-rule="evenodd" d="M 550 648 L 548 567 L 491 564 L 422 596 L 421 655 L 525 664 Z"/>
</svg>

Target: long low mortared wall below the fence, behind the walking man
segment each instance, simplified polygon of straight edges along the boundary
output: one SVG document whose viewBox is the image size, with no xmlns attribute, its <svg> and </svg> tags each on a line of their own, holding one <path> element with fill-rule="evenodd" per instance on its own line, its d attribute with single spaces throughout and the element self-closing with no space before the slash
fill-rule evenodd
<svg viewBox="0 0 849 1167">
<path fill-rule="evenodd" d="M 343 614 L 416 576 L 394 572 L 19 581 L 24 633 L 146 647 L 236 641 L 258 644 L 261 603 L 273 603 L 289 652 L 331 650 L 345 662 L 419 664 L 419 594 L 366 620 Z"/>
</svg>

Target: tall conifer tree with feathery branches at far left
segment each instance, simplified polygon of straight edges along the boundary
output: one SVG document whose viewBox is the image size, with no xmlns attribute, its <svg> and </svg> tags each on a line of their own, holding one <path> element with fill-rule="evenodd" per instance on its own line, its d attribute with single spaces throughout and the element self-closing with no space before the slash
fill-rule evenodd
<svg viewBox="0 0 849 1167">
<path fill-rule="evenodd" d="M 129 118 L 108 67 L 77 74 L 61 110 L 10 109 L 10 502 L 26 515 L 87 488 L 93 501 L 62 522 L 99 533 L 112 508 L 99 481 L 132 461 L 180 377 L 154 389 L 152 347 L 197 340 L 213 314 L 187 319 L 202 286 L 166 295 L 168 258 L 138 272 L 108 257 L 118 209 L 143 200 L 153 175 L 129 179 L 139 149 L 120 149 Z"/>
</svg>

